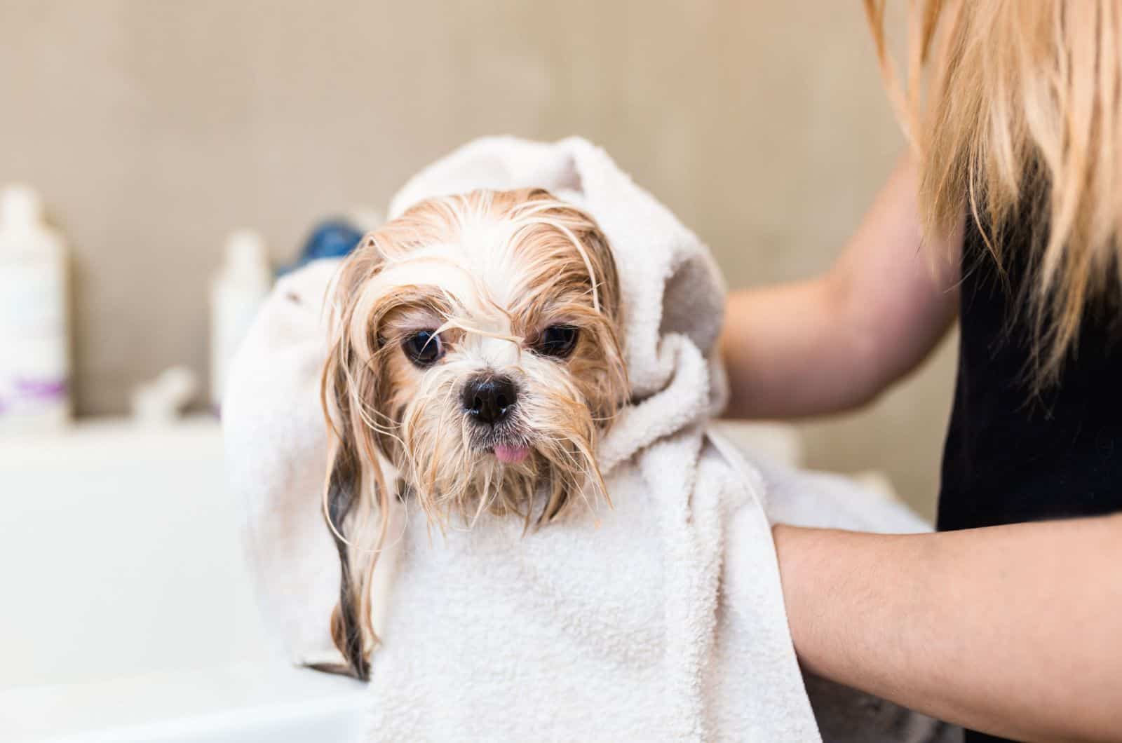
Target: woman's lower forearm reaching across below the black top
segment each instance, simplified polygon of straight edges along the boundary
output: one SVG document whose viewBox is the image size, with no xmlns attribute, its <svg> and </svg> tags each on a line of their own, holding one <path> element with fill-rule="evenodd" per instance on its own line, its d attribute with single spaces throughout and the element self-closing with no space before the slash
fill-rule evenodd
<svg viewBox="0 0 1122 743">
<path fill-rule="evenodd" d="M 1122 515 L 913 535 L 775 526 L 820 676 L 1029 741 L 1122 735 Z"/>
</svg>

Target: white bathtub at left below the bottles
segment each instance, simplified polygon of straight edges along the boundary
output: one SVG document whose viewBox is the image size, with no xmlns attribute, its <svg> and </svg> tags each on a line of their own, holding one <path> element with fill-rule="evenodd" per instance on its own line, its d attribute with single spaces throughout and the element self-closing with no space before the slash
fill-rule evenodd
<svg viewBox="0 0 1122 743">
<path fill-rule="evenodd" d="M 0 741 L 355 740 L 360 685 L 273 658 L 218 424 L 0 441 Z"/>
</svg>

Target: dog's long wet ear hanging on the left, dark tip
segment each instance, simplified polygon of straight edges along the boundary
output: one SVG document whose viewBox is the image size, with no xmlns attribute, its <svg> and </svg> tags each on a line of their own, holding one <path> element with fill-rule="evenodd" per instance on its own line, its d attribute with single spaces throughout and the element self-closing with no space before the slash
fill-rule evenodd
<svg viewBox="0 0 1122 743">
<path fill-rule="evenodd" d="M 362 302 L 367 282 L 381 267 L 375 237 L 364 238 L 337 278 L 332 339 L 323 368 L 321 400 L 329 429 L 323 515 L 339 554 L 339 603 L 331 637 L 346 664 L 318 670 L 370 677 L 377 636 L 370 617 L 370 583 L 385 539 L 389 493 L 378 441 L 380 361 L 376 321 Z"/>
</svg>

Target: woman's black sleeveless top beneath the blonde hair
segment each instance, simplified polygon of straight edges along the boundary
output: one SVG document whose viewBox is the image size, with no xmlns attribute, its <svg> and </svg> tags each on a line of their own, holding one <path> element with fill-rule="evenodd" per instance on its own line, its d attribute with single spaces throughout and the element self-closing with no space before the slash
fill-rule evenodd
<svg viewBox="0 0 1122 743">
<path fill-rule="evenodd" d="M 1023 310 L 1032 237 L 1022 228 L 1003 240 L 1002 274 L 967 219 L 940 531 L 1122 511 L 1122 313 L 1116 297 L 1085 312 L 1059 380 L 1034 395 Z"/>
</svg>

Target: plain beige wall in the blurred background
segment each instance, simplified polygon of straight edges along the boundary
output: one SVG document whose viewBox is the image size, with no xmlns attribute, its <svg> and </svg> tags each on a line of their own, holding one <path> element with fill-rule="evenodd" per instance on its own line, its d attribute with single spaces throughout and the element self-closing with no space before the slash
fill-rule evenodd
<svg viewBox="0 0 1122 743">
<path fill-rule="evenodd" d="M 598 141 L 733 286 L 828 266 L 901 146 L 857 0 L 0 0 L 0 182 L 74 246 L 86 414 L 205 369 L 229 230 L 286 262 L 477 135 Z M 808 425 L 812 464 L 888 469 L 930 512 L 951 356 Z"/>
</svg>

